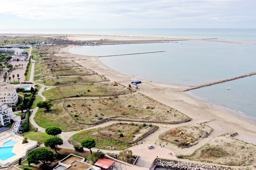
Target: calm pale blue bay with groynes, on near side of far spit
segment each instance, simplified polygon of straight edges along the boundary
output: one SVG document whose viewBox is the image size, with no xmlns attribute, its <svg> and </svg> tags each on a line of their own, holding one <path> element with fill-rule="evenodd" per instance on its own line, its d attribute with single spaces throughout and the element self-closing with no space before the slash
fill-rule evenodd
<svg viewBox="0 0 256 170">
<path fill-rule="evenodd" d="M 211 41 L 76 46 L 74 54 L 105 56 L 105 65 L 134 77 L 175 85 L 195 86 L 255 72 L 256 45 Z M 237 79 L 189 93 L 209 102 L 256 117 L 256 76 Z M 230 90 L 227 90 L 230 88 Z"/>
</svg>

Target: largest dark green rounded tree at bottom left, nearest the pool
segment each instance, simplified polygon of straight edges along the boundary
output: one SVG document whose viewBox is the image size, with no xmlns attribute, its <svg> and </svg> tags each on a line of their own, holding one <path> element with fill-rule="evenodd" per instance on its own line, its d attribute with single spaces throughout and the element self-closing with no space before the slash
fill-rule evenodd
<svg viewBox="0 0 256 170">
<path fill-rule="evenodd" d="M 39 164 L 40 161 L 45 165 L 47 162 L 54 161 L 53 152 L 46 148 L 37 148 L 29 152 L 27 157 L 28 164 Z"/>
</svg>

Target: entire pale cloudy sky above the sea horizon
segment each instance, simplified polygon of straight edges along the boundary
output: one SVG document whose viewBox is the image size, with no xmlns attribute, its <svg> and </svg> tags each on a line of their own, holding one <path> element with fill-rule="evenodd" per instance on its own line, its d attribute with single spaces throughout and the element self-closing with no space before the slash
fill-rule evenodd
<svg viewBox="0 0 256 170">
<path fill-rule="evenodd" d="M 256 0 L 0 0 L 0 6 L 0 29 L 256 28 Z"/>
</svg>

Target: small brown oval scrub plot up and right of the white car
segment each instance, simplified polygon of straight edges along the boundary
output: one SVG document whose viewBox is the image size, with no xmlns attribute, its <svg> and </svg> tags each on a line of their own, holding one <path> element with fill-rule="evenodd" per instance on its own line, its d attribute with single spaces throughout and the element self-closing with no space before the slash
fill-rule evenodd
<svg viewBox="0 0 256 170">
<path fill-rule="evenodd" d="M 206 138 L 211 132 L 212 128 L 205 124 L 187 125 L 168 130 L 162 133 L 159 139 L 179 147 L 190 147 Z"/>
</svg>

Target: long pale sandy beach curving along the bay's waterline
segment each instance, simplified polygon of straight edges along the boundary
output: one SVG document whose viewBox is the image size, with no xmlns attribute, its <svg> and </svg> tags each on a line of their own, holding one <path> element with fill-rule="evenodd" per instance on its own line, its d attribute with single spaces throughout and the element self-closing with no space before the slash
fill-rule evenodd
<svg viewBox="0 0 256 170">
<path fill-rule="evenodd" d="M 137 79 L 114 71 L 100 62 L 96 57 L 71 54 L 69 48 L 72 47 L 73 46 L 62 48 L 56 55 L 72 57 L 73 60 L 80 65 L 91 68 L 93 71 L 104 75 L 111 81 L 120 82 L 126 86 L 131 80 Z M 236 136 L 237 139 L 256 144 L 255 123 L 250 122 L 242 116 L 237 116 L 221 106 L 202 101 L 186 93 L 178 92 L 182 88 L 184 87 L 143 80 L 143 83 L 139 85 L 138 91 L 191 117 L 192 121 L 190 121 L 190 124 L 217 119 L 217 121 L 208 124 L 214 130 L 214 136 L 212 137 L 227 132 L 237 132 L 239 133 L 239 135 Z"/>
</svg>

